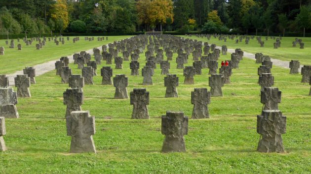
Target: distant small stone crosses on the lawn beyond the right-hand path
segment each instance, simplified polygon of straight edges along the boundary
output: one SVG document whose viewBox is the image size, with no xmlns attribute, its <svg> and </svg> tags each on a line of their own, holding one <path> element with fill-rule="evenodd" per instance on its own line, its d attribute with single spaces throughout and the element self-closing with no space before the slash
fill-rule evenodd
<svg viewBox="0 0 311 174">
<path fill-rule="evenodd" d="M 208 40 L 210 40 L 210 38 L 213 36 L 215 39 L 218 38 L 218 40 L 223 40 L 224 42 L 227 42 L 227 38 L 234 40 L 235 39 L 235 43 L 238 44 L 239 42 L 242 42 L 243 39 L 245 39 L 245 44 L 248 45 L 249 40 L 250 39 L 254 39 L 255 36 L 246 36 L 246 35 L 228 35 L 228 34 L 186 34 L 186 36 L 196 36 L 196 37 L 206 37 Z M 238 38 L 238 39 L 237 39 Z M 265 37 L 266 40 L 268 40 L 269 36 Z M 275 40 L 275 42 L 273 43 L 273 48 L 277 49 L 281 47 L 281 40 L 282 37 L 277 37 L 275 38 L 275 36 L 270 36 L 270 39 Z M 262 41 L 262 36 L 256 36 L 256 40 L 258 41 L 258 43 L 260 44 L 260 47 L 264 47 L 265 46 L 265 42 Z M 302 39 L 298 39 L 295 38 L 295 40 L 293 41 L 293 47 L 296 47 L 296 44 L 299 43 L 300 45 L 300 49 L 304 49 L 305 48 L 305 43 L 302 42 Z"/>
</svg>

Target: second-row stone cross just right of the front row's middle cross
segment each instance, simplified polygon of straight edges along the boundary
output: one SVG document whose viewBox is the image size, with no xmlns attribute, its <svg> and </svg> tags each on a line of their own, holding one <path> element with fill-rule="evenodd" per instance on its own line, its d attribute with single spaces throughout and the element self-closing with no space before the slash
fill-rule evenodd
<svg viewBox="0 0 311 174">
<path fill-rule="evenodd" d="M 207 105 L 211 103 L 211 92 L 207 88 L 194 88 L 191 92 L 191 103 L 194 105 L 191 118 L 209 118 Z"/>
</svg>

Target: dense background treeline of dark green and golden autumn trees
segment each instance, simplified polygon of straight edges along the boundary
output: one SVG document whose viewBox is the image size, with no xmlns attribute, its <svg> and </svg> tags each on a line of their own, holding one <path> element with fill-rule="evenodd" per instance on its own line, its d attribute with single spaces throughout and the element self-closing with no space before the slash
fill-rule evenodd
<svg viewBox="0 0 311 174">
<path fill-rule="evenodd" d="M 302 32 L 311 0 L 0 0 L 0 33 Z"/>
</svg>

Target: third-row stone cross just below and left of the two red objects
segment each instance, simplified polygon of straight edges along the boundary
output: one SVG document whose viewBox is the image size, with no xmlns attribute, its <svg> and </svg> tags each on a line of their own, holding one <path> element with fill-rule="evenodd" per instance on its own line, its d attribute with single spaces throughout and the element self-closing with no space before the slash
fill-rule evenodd
<svg viewBox="0 0 311 174">
<path fill-rule="evenodd" d="M 221 87 L 224 86 L 224 77 L 221 74 L 212 74 L 208 78 L 208 86 L 211 87 L 211 96 L 218 97 L 223 96 Z"/>
</svg>

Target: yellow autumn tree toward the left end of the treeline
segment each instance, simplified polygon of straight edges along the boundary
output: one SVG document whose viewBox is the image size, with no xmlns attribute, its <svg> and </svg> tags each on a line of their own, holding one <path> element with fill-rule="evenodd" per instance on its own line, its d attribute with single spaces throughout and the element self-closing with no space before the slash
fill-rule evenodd
<svg viewBox="0 0 311 174">
<path fill-rule="evenodd" d="M 58 23 L 63 25 L 58 26 L 60 32 L 68 27 L 69 17 L 66 0 L 56 0 L 56 3 L 52 5 L 51 18 L 55 24 Z"/>
</svg>

